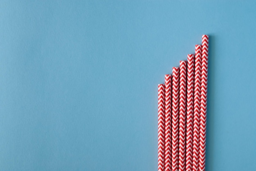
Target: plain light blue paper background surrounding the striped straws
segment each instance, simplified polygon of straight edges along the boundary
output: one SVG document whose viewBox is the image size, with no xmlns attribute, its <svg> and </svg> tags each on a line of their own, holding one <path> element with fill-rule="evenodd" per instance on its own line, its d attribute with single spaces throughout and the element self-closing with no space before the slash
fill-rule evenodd
<svg viewBox="0 0 256 171">
<path fill-rule="evenodd" d="M 157 84 L 209 34 L 207 171 L 256 168 L 255 1 L 0 2 L 0 170 L 156 171 Z"/>
</svg>

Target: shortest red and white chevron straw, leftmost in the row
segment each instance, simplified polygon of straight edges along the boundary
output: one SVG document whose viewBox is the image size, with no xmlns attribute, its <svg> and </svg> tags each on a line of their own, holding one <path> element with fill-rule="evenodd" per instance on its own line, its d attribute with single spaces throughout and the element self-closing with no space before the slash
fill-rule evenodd
<svg viewBox="0 0 256 171">
<path fill-rule="evenodd" d="M 164 171 L 164 84 L 158 84 L 158 171 Z"/>
</svg>

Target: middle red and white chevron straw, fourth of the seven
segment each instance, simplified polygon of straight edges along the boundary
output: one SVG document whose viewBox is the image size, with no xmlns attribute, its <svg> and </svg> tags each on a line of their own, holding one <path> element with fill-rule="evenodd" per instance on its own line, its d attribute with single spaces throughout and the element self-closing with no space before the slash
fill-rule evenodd
<svg viewBox="0 0 256 171">
<path fill-rule="evenodd" d="M 185 170 L 186 148 L 186 61 L 180 61 L 179 91 L 179 171 Z"/>
</svg>

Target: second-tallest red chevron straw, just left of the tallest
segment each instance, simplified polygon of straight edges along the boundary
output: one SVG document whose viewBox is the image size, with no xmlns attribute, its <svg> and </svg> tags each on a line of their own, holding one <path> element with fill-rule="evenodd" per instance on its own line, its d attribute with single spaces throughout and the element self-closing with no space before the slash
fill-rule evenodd
<svg viewBox="0 0 256 171">
<path fill-rule="evenodd" d="M 193 171 L 198 171 L 198 158 L 199 158 L 201 53 L 202 53 L 202 46 L 195 45 L 195 79 L 194 79 L 195 90 L 194 90 L 193 154 L 192 154 L 192 170 Z"/>
</svg>

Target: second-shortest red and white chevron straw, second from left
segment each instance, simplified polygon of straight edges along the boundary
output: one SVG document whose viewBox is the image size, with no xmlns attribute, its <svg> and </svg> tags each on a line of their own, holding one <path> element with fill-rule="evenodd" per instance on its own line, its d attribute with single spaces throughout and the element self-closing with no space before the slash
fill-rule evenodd
<svg viewBox="0 0 256 171">
<path fill-rule="evenodd" d="M 171 75 L 164 77 L 165 85 L 165 138 L 164 138 L 164 170 L 171 171 Z"/>
</svg>

